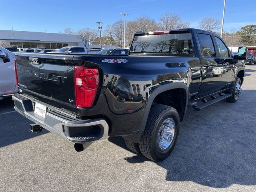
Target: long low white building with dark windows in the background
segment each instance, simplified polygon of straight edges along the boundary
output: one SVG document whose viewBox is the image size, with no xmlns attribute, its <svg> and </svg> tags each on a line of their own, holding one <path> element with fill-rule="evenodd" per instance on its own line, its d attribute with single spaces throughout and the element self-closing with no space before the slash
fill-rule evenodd
<svg viewBox="0 0 256 192">
<path fill-rule="evenodd" d="M 78 35 L 0 30 L 0 46 L 56 49 L 83 44 Z"/>
</svg>

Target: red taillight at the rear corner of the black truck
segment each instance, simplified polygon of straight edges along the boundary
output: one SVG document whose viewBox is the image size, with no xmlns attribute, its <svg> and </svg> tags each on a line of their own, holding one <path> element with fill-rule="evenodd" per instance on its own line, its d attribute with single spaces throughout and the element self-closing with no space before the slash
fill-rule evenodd
<svg viewBox="0 0 256 192">
<path fill-rule="evenodd" d="M 92 107 L 99 86 L 99 70 L 94 67 L 75 66 L 76 106 Z"/>
</svg>

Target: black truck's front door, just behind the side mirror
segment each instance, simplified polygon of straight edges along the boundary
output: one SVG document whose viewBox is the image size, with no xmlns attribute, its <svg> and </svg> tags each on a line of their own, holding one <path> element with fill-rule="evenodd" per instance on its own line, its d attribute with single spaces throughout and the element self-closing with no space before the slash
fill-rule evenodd
<svg viewBox="0 0 256 192">
<path fill-rule="evenodd" d="M 232 54 L 225 43 L 218 37 L 214 36 L 217 46 L 217 55 L 219 62 L 222 64 L 221 88 L 222 90 L 230 88 L 235 78 L 235 64 L 232 62 Z"/>
</svg>

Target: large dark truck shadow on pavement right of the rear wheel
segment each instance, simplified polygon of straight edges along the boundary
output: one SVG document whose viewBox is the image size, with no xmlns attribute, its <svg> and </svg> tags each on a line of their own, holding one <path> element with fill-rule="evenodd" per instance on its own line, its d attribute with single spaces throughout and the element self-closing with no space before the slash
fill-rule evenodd
<svg viewBox="0 0 256 192">
<path fill-rule="evenodd" d="M 255 103 L 256 90 L 243 90 L 234 104 L 222 101 L 199 112 L 188 108 L 174 150 L 157 163 L 167 170 L 166 180 L 214 188 L 256 185 Z M 128 150 L 121 137 L 109 140 Z M 124 159 L 150 161 L 137 154 Z"/>
</svg>

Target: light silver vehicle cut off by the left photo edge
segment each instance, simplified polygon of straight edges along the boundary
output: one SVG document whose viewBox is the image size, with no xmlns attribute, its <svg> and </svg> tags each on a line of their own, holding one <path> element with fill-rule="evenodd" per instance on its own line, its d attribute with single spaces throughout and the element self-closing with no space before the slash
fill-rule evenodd
<svg viewBox="0 0 256 192">
<path fill-rule="evenodd" d="M 0 100 L 18 92 L 14 59 L 13 52 L 0 46 Z"/>
</svg>

